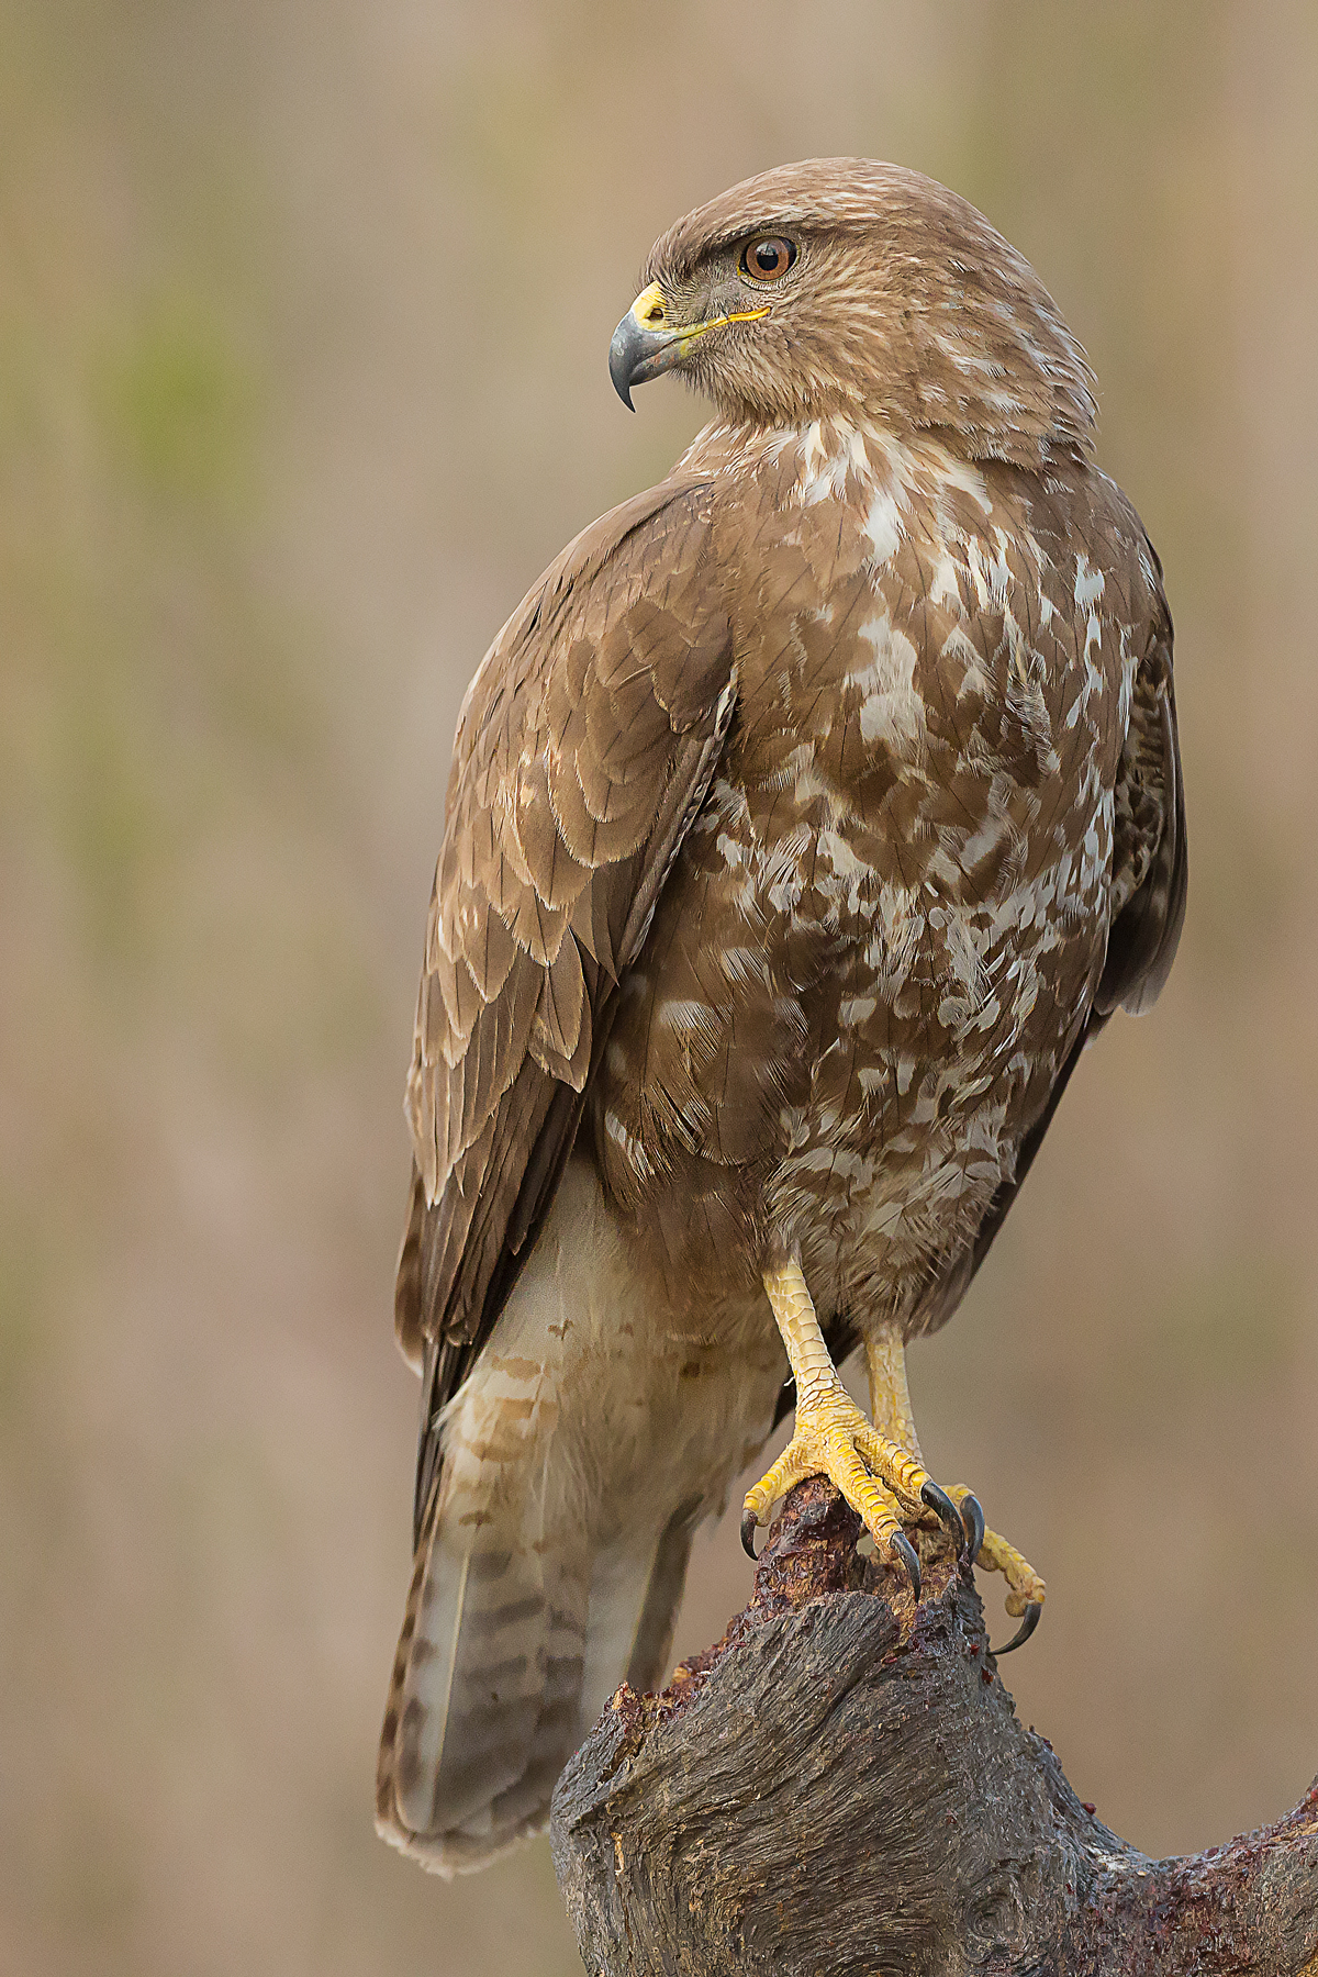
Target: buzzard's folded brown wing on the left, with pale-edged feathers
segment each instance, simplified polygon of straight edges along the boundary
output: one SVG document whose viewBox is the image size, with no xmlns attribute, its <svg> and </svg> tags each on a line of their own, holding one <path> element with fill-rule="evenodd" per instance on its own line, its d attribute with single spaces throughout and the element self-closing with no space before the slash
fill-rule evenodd
<svg viewBox="0 0 1318 1977">
<path fill-rule="evenodd" d="M 571 1153 L 618 977 L 700 809 L 735 702 L 707 482 L 577 538 L 462 706 L 417 998 L 413 1192 L 395 1323 L 435 1418 L 530 1253 Z"/>
</svg>

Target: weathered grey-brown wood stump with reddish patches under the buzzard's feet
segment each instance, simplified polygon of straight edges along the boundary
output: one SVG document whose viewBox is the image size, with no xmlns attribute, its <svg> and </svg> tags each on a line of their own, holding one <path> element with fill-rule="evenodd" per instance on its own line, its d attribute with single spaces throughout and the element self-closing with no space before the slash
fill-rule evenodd
<svg viewBox="0 0 1318 1977">
<path fill-rule="evenodd" d="M 1318 1977 L 1318 1781 L 1278 1825 L 1148 1860 L 1081 1805 L 988 1653 L 968 1568 L 925 1597 L 800 1485 L 755 1595 L 567 1765 L 553 1862 L 599 1977 Z"/>
</svg>

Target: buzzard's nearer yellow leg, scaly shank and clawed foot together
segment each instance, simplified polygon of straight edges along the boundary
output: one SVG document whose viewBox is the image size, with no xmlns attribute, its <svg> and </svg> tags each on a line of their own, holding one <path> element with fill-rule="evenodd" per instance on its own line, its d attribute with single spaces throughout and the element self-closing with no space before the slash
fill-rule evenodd
<svg viewBox="0 0 1318 1977">
<path fill-rule="evenodd" d="M 741 1542 L 755 1556 L 755 1526 L 767 1522 L 779 1497 L 804 1477 L 826 1475 L 860 1514 L 879 1558 L 903 1566 L 919 1599 L 919 1558 L 901 1524 L 919 1524 L 925 1510 L 935 1510 L 964 1544 L 956 1504 L 917 1455 L 865 1419 L 842 1386 L 798 1259 L 767 1269 L 765 1291 L 796 1378 L 796 1429 L 769 1475 L 747 1493 Z"/>
</svg>

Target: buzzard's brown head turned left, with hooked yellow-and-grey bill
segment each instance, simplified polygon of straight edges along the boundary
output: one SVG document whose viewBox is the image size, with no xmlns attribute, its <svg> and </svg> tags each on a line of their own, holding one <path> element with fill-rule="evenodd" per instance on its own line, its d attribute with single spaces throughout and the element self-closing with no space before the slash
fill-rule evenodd
<svg viewBox="0 0 1318 1977">
<path fill-rule="evenodd" d="M 1030 263 L 865 158 L 747 178 L 654 243 L 609 372 L 630 405 L 668 370 L 737 425 L 873 419 L 1022 467 L 1093 451 L 1093 374 Z"/>
</svg>

